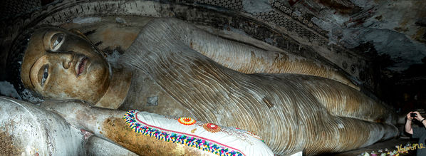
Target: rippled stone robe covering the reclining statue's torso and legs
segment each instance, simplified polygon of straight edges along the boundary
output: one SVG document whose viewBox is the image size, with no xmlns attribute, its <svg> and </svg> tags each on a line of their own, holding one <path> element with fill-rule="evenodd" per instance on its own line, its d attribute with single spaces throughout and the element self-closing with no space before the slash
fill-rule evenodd
<svg viewBox="0 0 426 156">
<path fill-rule="evenodd" d="M 246 74 L 219 65 L 187 44 L 196 29 L 176 19 L 155 19 L 142 29 L 120 60 L 135 70 L 120 109 L 249 130 L 277 155 L 301 149 L 308 155 L 341 152 L 398 134 L 390 124 L 392 110 L 343 83 Z M 157 105 L 148 105 L 153 97 Z"/>
</svg>

